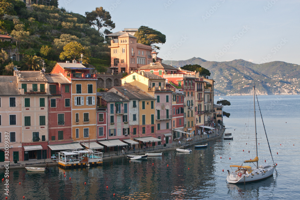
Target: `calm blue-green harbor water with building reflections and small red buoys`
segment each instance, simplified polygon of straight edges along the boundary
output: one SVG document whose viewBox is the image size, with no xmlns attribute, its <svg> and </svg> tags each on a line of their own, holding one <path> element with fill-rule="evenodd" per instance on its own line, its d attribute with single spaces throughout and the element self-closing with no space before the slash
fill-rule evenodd
<svg viewBox="0 0 300 200">
<path fill-rule="evenodd" d="M 9 199 L 299 199 L 300 95 L 258 98 L 278 176 L 274 173 L 264 181 L 246 185 L 226 183 L 229 165 L 254 158 L 255 148 L 253 97 L 223 96 L 231 103 L 224 107 L 231 114 L 224 117 L 224 123 L 225 133 L 232 133 L 233 141 L 208 142 L 207 149 L 191 148 L 190 154 L 167 151 L 147 161 L 115 159 L 89 169 L 52 167 L 46 173 L 10 170 Z M 259 119 L 258 113 L 256 116 Z M 271 164 L 259 122 L 257 133 L 259 159 Z M 4 185 L 0 188 L 0 199 L 4 199 Z"/>
</svg>

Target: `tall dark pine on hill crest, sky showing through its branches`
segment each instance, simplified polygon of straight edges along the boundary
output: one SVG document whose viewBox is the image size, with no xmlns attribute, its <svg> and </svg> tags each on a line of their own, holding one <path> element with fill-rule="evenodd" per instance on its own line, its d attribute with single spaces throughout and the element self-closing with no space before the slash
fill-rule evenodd
<svg viewBox="0 0 300 200">
<path fill-rule="evenodd" d="M 85 12 L 85 16 L 86 22 L 98 30 L 100 34 L 110 34 L 112 33 L 110 31 L 116 27 L 111 20 L 110 13 L 104 10 L 103 7 L 96 7 L 96 10 Z"/>
</svg>

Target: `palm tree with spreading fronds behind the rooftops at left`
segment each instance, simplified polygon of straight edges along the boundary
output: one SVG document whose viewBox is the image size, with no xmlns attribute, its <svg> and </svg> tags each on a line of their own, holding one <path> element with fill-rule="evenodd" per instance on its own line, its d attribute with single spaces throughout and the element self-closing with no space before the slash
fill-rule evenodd
<svg viewBox="0 0 300 200">
<path fill-rule="evenodd" d="M 43 67 L 42 58 L 36 55 L 26 55 L 23 57 L 22 61 L 20 62 L 20 67 L 22 70 L 26 71 L 37 71 L 41 70 Z"/>
</svg>

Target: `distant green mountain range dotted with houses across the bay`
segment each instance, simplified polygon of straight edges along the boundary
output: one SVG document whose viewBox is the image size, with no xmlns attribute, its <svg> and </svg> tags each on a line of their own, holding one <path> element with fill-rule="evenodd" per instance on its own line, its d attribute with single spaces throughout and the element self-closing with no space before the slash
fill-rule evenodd
<svg viewBox="0 0 300 200">
<path fill-rule="evenodd" d="M 171 64 L 170 60 L 163 61 Z M 202 58 L 172 61 L 174 67 L 199 64 L 211 73 L 215 95 L 251 95 L 255 82 L 261 95 L 300 94 L 300 65 L 282 61 L 256 64 L 242 59 L 217 62 Z"/>
</svg>

